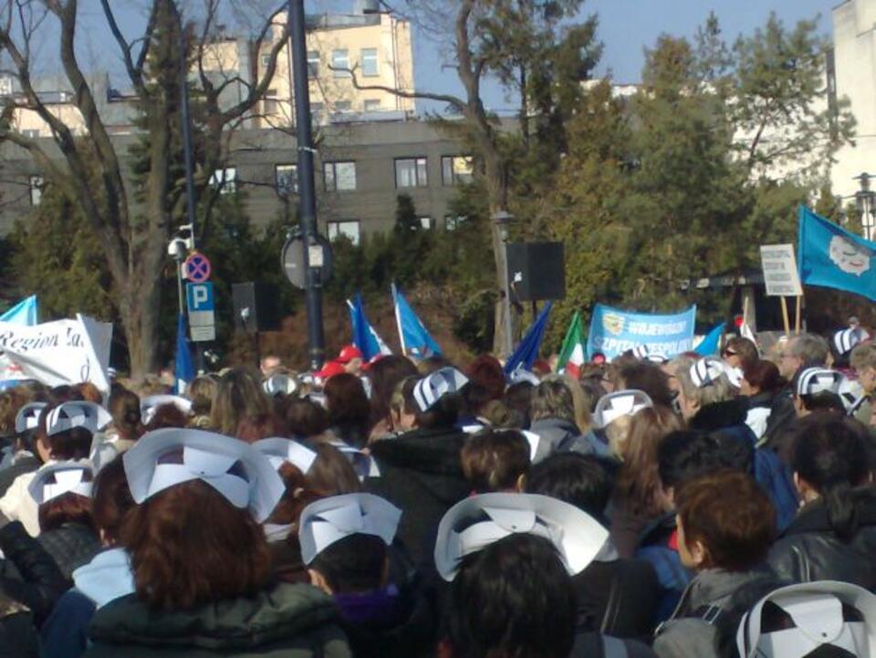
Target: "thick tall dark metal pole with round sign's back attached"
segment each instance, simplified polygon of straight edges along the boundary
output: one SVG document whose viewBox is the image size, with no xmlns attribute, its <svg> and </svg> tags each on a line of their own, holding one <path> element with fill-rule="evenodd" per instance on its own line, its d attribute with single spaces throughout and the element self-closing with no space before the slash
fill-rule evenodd
<svg viewBox="0 0 876 658">
<path fill-rule="evenodd" d="M 308 308 L 310 367 L 318 370 L 325 356 L 322 329 L 322 286 L 318 268 L 310 266 L 310 248 L 317 245 L 317 198 L 314 189 L 313 136 L 310 131 L 310 89 L 308 47 L 305 37 L 304 0 L 289 0 L 289 28 L 292 39 L 292 73 L 295 82 L 295 122 L 298 144 L 298 194 L 301 235 L 304 238 L 306 268 L 305 295 Z"/>
</svg>

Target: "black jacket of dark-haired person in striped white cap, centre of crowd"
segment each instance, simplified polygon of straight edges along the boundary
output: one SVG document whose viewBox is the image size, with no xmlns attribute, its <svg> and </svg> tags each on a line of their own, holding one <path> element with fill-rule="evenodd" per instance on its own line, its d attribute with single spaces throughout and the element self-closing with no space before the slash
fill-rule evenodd
<svg viewBox="0 0 876 658">
<path fill-rule="evenodd" d="M 459 453 L 467 436 L 454 429 L 414 430 L 371 446 L 380 477 L 365 489 L 401 508 L 396 537 L 417 563 L 431 563 L 435 530 L 444 513 L 470 493 Z"/>
</svg>

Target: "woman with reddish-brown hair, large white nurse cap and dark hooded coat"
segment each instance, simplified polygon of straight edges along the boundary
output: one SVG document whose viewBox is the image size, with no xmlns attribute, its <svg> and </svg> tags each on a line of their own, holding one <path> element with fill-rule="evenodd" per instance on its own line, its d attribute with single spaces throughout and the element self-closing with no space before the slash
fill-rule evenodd
<svg viewBox="0 0 876 658">
<path fill-rule="evenodd" d="M 138 503 L 121 532 L 135 592 L 95 612 L 84 655 L 349 656 L 331 599 L 273 577 L 260 524 L 284 486 L 265 455 L 167 429 L 123 459 Z"/>
</svg>

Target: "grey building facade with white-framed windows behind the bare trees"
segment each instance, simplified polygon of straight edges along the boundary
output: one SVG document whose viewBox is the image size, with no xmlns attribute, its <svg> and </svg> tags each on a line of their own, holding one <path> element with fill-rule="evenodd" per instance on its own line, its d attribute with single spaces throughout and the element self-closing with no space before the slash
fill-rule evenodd
<svg viewBox="0 0 876 658">
<path fill-rule="evenodd" d="M 388 117 L 389 119 L 389 117 Z M 113 138 L 121 153 L 137 136 Z M 47 151 L 61 158 L 50 138 Z M 297 204 L 297 148 L 284 131 L 237 131 L 227 168 L 216 172 L 224 193 L 244 195 L 255 225 L 266 225 Z M 454 228 L 450 203 L 460 183 L 471 180 L 462 145 L 435 124 L 421 120 L 370 120 L 319 129 L 316 187 L 320 232 L 354 242 L 369 232 L 391 229 L 399 194 L 412 197 L 422 225 Z M 42 173 L 26 151 L 0 147 L 0 233 L 25 219 L 40 203 Z M 294 214 L 294 210 L 292 211 Z"/>
</svg>

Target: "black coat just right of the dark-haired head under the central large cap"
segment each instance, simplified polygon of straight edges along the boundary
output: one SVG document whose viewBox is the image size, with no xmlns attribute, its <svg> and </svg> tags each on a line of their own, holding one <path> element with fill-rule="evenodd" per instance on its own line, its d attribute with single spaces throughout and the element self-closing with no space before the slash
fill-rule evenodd
<svg viewBox="0 0 876 658">
<path fill-rule="evenodd" d="M 594 560 L 572 578 L 579 631 L 647 640 L 654 628 L 660 584 L 641 559 Z"/>
</svg>

